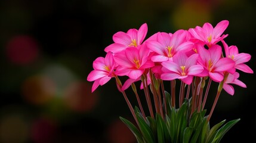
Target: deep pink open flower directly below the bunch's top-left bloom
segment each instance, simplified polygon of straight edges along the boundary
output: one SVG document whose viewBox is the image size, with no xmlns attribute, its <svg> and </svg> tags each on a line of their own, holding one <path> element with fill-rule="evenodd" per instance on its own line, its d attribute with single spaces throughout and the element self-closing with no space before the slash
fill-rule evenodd
<svg viewBox="0 0 256 143">
<path fill-rule="evenodd" d="M 116 63 L 119 64 L 115 73 L 119 76 L 128 75 L 131 79 L 138 79 L 145 69 L 154 66 L 148 57 L 149 49 L 145 45 L 138 48 L 127 48 L 114 55 Z"/>
</svg>

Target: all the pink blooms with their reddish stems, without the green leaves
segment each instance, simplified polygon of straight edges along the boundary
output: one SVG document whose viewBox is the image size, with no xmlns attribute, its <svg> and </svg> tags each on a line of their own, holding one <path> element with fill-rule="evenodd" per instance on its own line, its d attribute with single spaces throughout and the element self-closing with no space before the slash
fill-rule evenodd
<svg viewBox="0 0 256 143">
<path fill-rule="evenodd" d="M 141 114 L 146 119 L 134 82 L 141 81 L 140 89 L 144 89 L 150 116 L 154 118 L 155 114 L 149 90 L 153 94 L 156 113 L 161 114 L 165 119 L 168 101 L 166 101 L 164 80 L 171 81 L 171 107 L 176 107 L 175 83 L 176 80 L 180 81 L 178 107 L 181 107 L 184 100 L 191 98 L 190 117 L 194 111 L 203 110 L 209 86 L 213 81 L 219 86 L 208 116 L 209 121 L 222 89 L 233 95 L 235 90 L 232 84 L 246 88 L 245 83 L 238 79 L 238 70 L 253 73 L 252 69 L 245 64 L 251 59 L 251 55 L 239 53 L 236 46 L 229 46 L 224 41 L 228 35 L 223 33 L 228 25 L 227 20 L 220 21 L 215 27 L 205 23 L 202 27 L 177 30 L 174 33 L 158 32 L 146 40 L 144 40 L 147 35 L 146 23 L 138 30 L 117 32 L 113 35 L 114 43 L 104 49 L 107 52 L 106 57 L 99 57 L 93 63 L 94 70 L 87 78 L 88 81 L 94 81 L 92 92 L 114 77 L 119 91 L 124 95 L 138 123 L 134 109 L 125 94 L 125 90 L 132 86 Z M 128 79 L 122 84 L 119 76 L 128 76 Z M 206 80 L 208 85 L 203 96 Z"/>
</svg>

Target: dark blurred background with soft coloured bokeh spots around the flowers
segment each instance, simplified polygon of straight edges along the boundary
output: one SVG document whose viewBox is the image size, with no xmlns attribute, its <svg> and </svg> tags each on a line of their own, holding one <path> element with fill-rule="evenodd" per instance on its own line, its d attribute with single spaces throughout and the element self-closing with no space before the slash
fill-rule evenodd
<svg viewBox="0 0 256 143">
<path fill-rule="evenodd" d="M 255 71 L 255 14 L 252 0 L 1 1 L 0 142 L 135 142 L 119 120 L 132 116 L 115 81 L 93 94 L 87 81 L 113 34 L 147 23 L 149 38 L 229 20 L 227 44 L 251 54 L 247 64 Z M 241 119 L 222 142 L 255 140 L 256 78 L 239 73 L 247 88 L 234 86 L 233 96 L 223 91 L 211 119 Z"/>
</svg>

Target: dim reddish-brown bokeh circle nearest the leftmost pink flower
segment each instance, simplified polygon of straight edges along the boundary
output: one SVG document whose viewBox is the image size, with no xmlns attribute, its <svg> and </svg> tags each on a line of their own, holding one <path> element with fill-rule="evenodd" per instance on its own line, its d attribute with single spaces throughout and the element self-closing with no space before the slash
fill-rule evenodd
<svg viewBox="0 0 256 143">
<path fill-rule="evenodd" d="M 67 87 L 64 100 L 71 110 L 88 112 L 97 105 L 98 94 L 91 93 L 91 84 L 87 82 L 73 82 Z"/>
</svg>

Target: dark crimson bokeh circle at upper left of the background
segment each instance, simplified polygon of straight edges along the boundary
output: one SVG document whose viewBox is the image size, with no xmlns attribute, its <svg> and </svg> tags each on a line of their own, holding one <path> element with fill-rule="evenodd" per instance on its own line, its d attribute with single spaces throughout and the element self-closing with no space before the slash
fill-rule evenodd
<svg viewBox="0 0 256 143">
<path fill-rule="evenodd" d="M 32 63 L 39 54 L 38 43 L 27 35 L 14 36 L 8 41 L 6 48 L 8 59 L 18 65 Z"/>
</svg>

